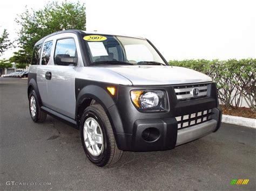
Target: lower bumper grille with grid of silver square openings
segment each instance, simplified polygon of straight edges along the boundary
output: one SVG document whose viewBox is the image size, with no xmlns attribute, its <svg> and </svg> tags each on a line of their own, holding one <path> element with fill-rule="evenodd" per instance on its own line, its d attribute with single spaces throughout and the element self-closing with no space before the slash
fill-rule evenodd
<svg viewBox="0 0 256 191">
<path fill-rule="evenodd" d="M 211 120 L 212 109 L 176 117 L 178 130 Z"/>
</svg>

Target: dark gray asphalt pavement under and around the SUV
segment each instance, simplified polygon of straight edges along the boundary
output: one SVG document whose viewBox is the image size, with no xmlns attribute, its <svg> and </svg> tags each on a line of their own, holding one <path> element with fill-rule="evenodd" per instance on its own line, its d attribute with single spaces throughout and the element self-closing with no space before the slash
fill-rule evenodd
<svg viewBox="0 0 256 191">
<path fill-rule="evenodd" d="M 26 79 L 0 77 L 0 190 L 255 190 L 255 129 L 222 124 L 174 150 L 124 152 L 116 166 L 100 168 L 87 160 L 78 130 L 50 116 L 32 122 L 26 87 Z"/>
</svg>

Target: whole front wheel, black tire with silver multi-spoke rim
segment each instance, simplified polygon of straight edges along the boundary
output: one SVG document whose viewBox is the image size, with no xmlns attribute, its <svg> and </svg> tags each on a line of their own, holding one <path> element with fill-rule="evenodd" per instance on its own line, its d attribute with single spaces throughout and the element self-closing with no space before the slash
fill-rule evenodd
<svg viewBox="0 0 256 191">
<path fill-rule="evenodd" d="M 91 105 L 84 110 L 80 136 L 85 154 L 93 164 L 110 166 L 122 157 L 123 151 L 117 147 L 111 123 L 101 105 Z"/>
</svg>

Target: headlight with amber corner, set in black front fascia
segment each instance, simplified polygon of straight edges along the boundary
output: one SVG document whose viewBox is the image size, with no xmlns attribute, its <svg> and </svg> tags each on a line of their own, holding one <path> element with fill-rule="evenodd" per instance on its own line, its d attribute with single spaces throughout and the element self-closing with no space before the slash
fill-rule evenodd
<svg viewBox="0 0 256 191">
<path fill-rule="evenodd" d="M 139 110 L 165 109 L 164 91 L 161 90 L 131 90 L 131 100 Z"/>
</svg>

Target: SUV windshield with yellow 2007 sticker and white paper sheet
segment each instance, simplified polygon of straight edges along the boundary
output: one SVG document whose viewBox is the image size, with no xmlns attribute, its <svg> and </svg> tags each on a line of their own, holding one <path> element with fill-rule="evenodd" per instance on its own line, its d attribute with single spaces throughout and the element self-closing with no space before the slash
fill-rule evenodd
<svg viewBox="0 0 256 191">
<path fill-rule="evenodd" d="M 92 34 L 83 39 L 92 64 L 166 65 L 144 39 Z"/>
</svg>

